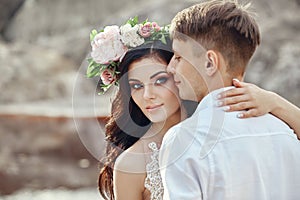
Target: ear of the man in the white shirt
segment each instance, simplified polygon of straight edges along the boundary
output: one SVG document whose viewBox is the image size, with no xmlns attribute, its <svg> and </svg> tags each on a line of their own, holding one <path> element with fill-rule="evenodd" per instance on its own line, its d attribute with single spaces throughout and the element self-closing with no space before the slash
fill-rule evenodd
<svg viewBox="0 0 300 200">
<path fill-rule="evenodd" d="M 218 71 L 219 58 L 217 52 L 208 50 L 206 52 L 205 72 L 208 76 L 214 75 Z"/>
</svg>

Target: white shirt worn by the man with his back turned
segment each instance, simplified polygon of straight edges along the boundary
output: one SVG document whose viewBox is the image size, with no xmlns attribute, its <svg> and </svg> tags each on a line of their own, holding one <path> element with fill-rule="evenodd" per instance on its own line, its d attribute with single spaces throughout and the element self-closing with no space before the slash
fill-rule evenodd
<svg viewBox="0 0 300 200">
<path fill-rule="evenodd" d="M 299 200 L 300 142 L 293 130 L 270 114 L 239 119 L 224 112 L 214 105 L 223 90 L 166 133 L 164 199 Z"/>
</svg>

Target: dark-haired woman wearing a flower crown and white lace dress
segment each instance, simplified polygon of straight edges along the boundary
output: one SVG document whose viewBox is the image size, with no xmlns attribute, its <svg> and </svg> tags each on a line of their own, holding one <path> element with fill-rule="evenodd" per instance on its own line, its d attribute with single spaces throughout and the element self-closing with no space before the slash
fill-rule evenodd
<svg viewBox="0 0 300 200">
<path fill-rule="evenodd" d="M 112 85 L 119 87 L 106 125 L 106 158 L 98 182 L 101 196 L 110 200 L 162 199 L 158 165 L 162 138 L 171 126 L 189 117 L 196 106 L 179 99 L 173 77 L 167 73 L 173 56 L 168 27 L 155 22 L 139 23 L 133 18 L 121 27 L 92 31 L 91 45 L 88 77 L 100 76 L 103 92 Z M 257 87 L 243 92 L 270 95 Z M 265 99 L 247 100 L 251 108 L 261 102 L 275 104 Z M 231 102 L 230 106 L 236 109 L 234 105 L 238 103 Z M 272 112 L 272 106 L 269 108 L 261 114 Z"/>
</svg>

